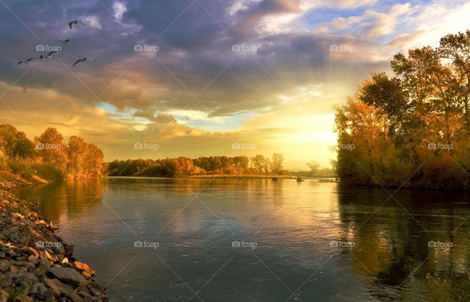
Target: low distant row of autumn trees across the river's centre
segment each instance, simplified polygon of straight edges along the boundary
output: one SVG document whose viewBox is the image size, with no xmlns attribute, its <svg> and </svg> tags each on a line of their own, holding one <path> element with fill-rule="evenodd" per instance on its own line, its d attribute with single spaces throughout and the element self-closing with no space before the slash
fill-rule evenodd
<svg viewBox="0 0 470 302">
<path fill-rule="evenodd" d="M 108 165 L 110 176 L 178 176 L 178 175 L 282 175 L 284 157 L 263 155 L 178 157 L 164 159 L 115 160 Z"/>
</svg>

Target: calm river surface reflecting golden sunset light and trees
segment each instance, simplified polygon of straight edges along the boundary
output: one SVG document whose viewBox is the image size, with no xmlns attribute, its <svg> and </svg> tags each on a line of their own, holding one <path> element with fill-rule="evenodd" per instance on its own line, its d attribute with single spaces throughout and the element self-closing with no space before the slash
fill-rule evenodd
<svg viewBox="0 0 470 302">
<path fill-rule="evenodd" d="M 466 193 L 124 177 L 17 193 L 113 302 L 470 301 Z"/>
</svg>

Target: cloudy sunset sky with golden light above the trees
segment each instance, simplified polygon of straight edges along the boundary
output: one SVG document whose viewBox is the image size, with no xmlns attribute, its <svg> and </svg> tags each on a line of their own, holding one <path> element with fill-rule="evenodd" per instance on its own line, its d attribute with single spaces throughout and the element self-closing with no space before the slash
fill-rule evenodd
<svg viewBox="0 0 470 302">
<path fill-rule="evenodd" d="M 329 167 L 333 106 L 469 15 L 461 0 L 0 0 L 0 124 L 55 127 L 107 161 L 276 152 L 286 169 Z M 83 57 L 96 62 L 71 67 Z"/>
</svg>

